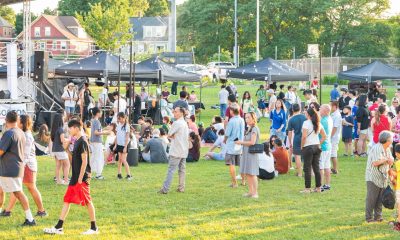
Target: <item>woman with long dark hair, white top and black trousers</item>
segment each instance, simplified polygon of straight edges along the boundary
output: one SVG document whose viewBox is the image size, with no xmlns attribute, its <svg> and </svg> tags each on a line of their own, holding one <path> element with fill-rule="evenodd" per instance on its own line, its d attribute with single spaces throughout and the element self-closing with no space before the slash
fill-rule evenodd
<svg viewBox="0 0 400 240">
<path fill-rule="evenodd" d="M 321 126 L 319 115 L 314 109 L 309 108 L 306 112 L 306 117 L 307 121 L 303 123 L 303 133 L 301 136 L 305 189 L 300 193 L 321 192 L 321 173 L 319 171 L 320 145 L 325 141 L 326 134 Z M 319 134 L 321 134 L 321 138 Z M 314 190 L 311 190 L 311 167 L 315 175 Z"/>
</svg>

